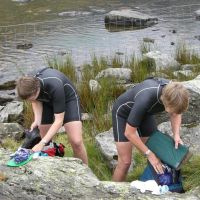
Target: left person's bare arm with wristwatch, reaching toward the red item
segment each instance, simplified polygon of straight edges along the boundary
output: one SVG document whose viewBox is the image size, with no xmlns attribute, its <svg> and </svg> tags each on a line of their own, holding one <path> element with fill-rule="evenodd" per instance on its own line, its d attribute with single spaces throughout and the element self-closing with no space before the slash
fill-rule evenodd
<svg viewBox="0 0 200 200">
<path fill-rule="evenodd" d="M 59 114 L 54 114 L 55 120 L 54 123 L 51 125 L 50 129 L 48 130 L 47 134 L 42 138 L 42 140 L 33 147 L 33 151 L 41 151 L 45 146 L 45 143 L 48 143 L 53 136 L 57 133 L 59 128 L 61 128 L 64 119 L 64 112 Z"/>
</svg>

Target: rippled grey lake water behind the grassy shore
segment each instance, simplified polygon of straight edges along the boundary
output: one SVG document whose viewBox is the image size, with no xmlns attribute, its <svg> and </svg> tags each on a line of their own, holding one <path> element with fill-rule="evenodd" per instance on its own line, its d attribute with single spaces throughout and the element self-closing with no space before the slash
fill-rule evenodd
<svg viewBox="0 0 200 200">
<path fill-rule="evenodd" d="M 76 66 L 90 62 L 93 54 L 113 57 L 120 52 L 121 58 L 127 59 L 139 54 L 145 37 L 155 39 L 152 49 L 167 54 L 173 54 L 179 42 L 200 50 L 195 37 L 200 35 L 200 21 L 194 17 L 194 11 L 200 9 L 199 0 L 16 1 L 0 0 L 1 83 L 66 53 L 72 55 Z M 159 23 L 139 30 L 106 29 L 105 14 L 121 8 L 156 16 Z M 24 43 L 33 46 L 27 50 L 16 48 Z"/>
</svg>

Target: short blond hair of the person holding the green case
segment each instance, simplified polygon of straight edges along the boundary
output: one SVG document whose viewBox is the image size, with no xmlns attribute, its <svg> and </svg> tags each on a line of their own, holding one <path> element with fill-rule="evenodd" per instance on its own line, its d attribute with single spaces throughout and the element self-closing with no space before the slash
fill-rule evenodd
<svg viewBox="0 0 200 200">
<path fill-rule="evenodd" d="M 165 107 L 181 114 L 188 109 L 189 92 L 180 82 L 170 82 L 163 88 L 161 100 Z"/>
</svg>

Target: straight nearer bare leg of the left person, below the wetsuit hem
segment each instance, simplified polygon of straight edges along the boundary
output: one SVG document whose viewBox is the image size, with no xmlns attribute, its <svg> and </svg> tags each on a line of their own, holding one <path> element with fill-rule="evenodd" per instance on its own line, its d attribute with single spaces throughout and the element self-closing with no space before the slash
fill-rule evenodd
<svg viewBox="0 0 200 200">
<path fill-rule="evenodd" d="M 82 138 L 82 122 L 68 122 L 64 125 L 64 127 L 66 133 L 68 134 L 74 157 L 80 158 L 85 164 L 88 164 L 87 152 Z"/>
</svg>

